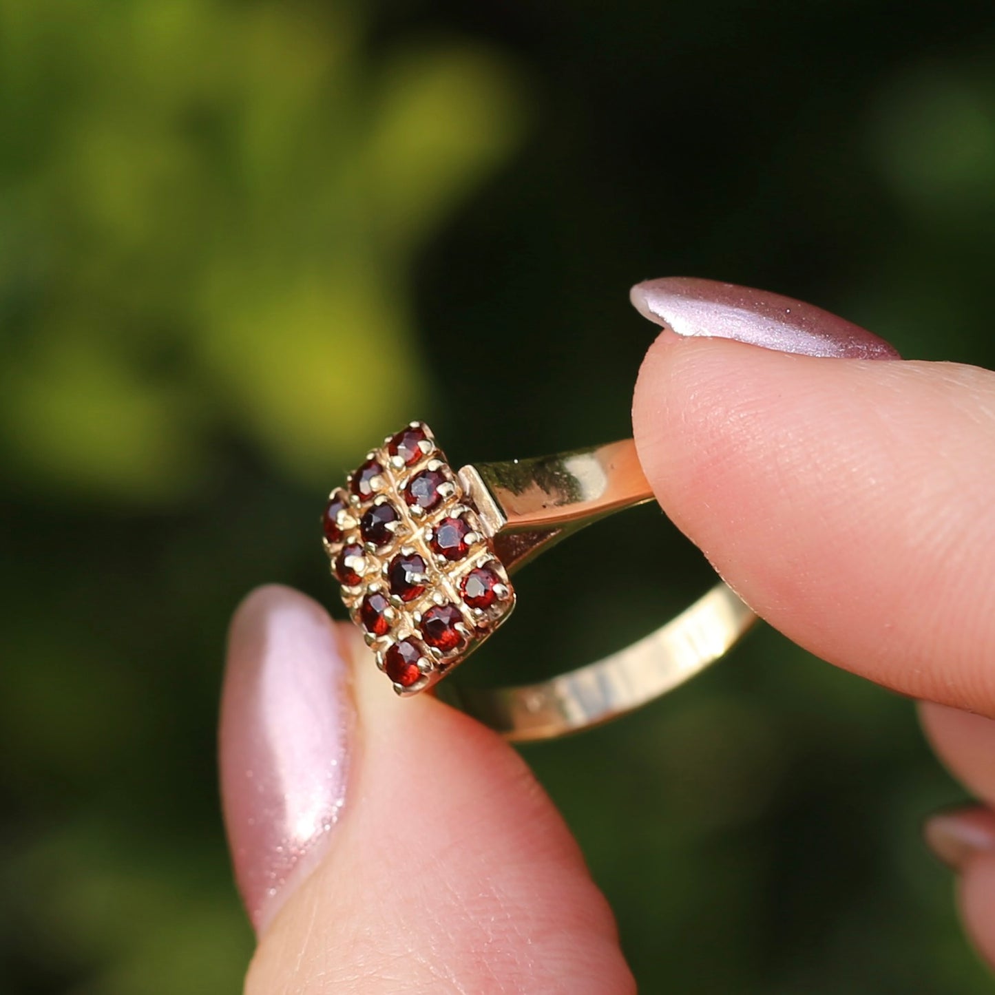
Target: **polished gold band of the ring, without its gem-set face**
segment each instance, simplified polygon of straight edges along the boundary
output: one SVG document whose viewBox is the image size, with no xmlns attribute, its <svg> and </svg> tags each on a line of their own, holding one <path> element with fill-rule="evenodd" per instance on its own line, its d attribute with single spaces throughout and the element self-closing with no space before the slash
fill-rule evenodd
<svg viewBox="0 0 995 995">
<path fill-rule="evenodd" d="M 468 466 L 459 477 L 509 572 L 598 518 L 653 497 L 631 439 Z M 537 684 L 490 689 L 449 681 L 438 692 L 508 739 L 548 739 L 666 694 L 723 656 L 755 620 L 719 583 L 656 632 L 597 663 Z"/>
</svg>

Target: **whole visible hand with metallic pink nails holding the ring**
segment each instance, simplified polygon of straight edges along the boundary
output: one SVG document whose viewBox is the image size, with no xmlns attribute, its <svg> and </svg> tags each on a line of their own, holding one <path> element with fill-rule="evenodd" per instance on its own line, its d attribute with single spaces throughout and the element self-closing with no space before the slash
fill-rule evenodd
<svg viewBox="0 0 995 995">
<path fill-rule="evenodd" d="M 995 373 L 899 361 L 728 285 L 654 281 L 634 302 L 664 326 L 633 405 L 654 493 L 767 622 L 923 702 L 982 802 L 926 837 L 995 962 Z M 398 762 L 413 750 L 432 762 Z M 236 614 L 221 761 L 259 935 L 249 995 L 635 990 L 520 757 L 432 697 L 395 697 L 351 627 L 287 588 Z"/>
</svg>

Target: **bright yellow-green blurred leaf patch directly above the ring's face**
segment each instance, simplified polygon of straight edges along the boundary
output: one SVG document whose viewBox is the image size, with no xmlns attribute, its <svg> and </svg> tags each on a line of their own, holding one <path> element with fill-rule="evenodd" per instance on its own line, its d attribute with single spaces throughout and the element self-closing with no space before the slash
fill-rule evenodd
<svg viewBox="0 0 995 995">
<path fill-rule="evenodd" d="M 356 439 L 376 439 L 420 406 L 422 370 L 399 301 L 375 274 L 344 260 L 285 278 L 261 274 L 219 293 L 198 345 L 230 410 L 277 465 L 326 488 Z"/>
</svg>

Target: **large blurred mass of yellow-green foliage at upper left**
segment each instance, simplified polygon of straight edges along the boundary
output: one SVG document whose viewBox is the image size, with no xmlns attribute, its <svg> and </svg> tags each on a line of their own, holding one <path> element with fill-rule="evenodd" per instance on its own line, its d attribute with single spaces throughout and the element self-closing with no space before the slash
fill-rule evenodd
<svg viewBox="0 0 995 995">
<path fill-rule="evenodd" d="M 504 158 L 521 102 L 465 41 L 370 60 L 363 20 L 345 4 L 0 6 L 16 360 L 0 431 L 20 475 L 171 502 L 224 431 L 316 482 L 404 417 L 423 373 L 413 257 Z M 368 396 L 371 355 L 386 389 Z"/>
</svg>

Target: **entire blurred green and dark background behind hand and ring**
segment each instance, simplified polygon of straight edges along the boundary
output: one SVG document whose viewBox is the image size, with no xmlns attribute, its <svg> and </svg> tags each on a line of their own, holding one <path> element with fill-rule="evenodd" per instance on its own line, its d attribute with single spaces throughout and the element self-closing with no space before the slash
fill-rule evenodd
<svg viewBox="0 0 995 995">
<path fill-rule="evenodd" d="M 0 0 L 0 991 L 239 989 L 227 619 L 264 581 L 336 601 L 322 498 L 386 432 L 627 435 L 626 293 L 664 275 L 995 364 L 993 44 L 990 0 Z M 606 592 L 597 648 L 708 582 L 638 513 L 671 566 Z M 478 672 L 579 658 L 543 608 L 591 567 L 526 571 Z M 526 753 L 644 991 L 990 990 L 911 704 L 769 630 Z"/>
</svg>

